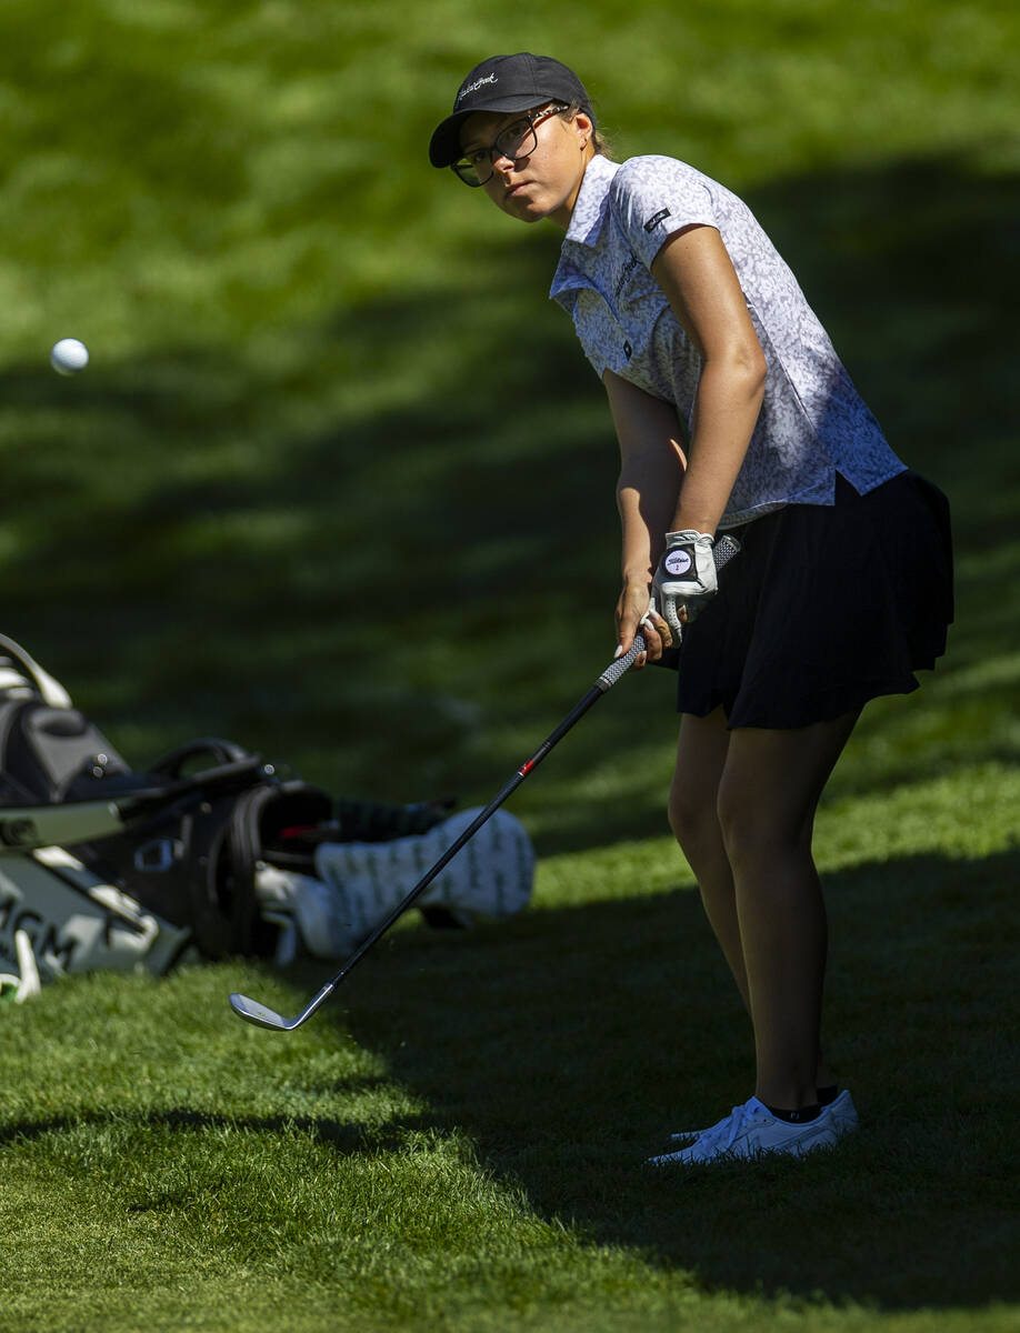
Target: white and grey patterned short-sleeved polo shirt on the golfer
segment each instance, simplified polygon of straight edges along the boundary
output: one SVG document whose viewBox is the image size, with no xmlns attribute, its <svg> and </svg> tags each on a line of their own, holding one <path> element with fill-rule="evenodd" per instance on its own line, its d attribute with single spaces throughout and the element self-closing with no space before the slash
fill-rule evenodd
<svg viewBox="0 0 1020 1333">
<path fill-rule="evenodd" d="M 761 413 L 720 528 L 785 504 L 831 505 L 836 473 L 864 495 L 905 471 L 751 209 L 672 157 L 593 157 L 549 296 L 573 316 L 601 377 L 672 403 L 689 427 L 701 359 L 649 269 L 665 239 L 715 227 L 768 365 Z"/>
</svg>

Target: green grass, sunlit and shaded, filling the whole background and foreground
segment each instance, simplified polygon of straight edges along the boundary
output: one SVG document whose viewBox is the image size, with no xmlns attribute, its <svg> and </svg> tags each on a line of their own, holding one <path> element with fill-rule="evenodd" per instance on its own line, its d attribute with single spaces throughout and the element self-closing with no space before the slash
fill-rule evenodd
<svg viewBox="0 0 1020 1333">
<path fill-rule="evenodd" d="M 648 672 L 513 798 L 533 909 L 396 930 L 301 1033 L 225 996 L 295 1012 L 320 968 L 3 1006 L 1 1333 L 1020 1326 L 1013 11 L 3 7 L 0 629 L 136 765 L 223 734 L 337 794 L 485 801 L 608 660 L 615 451 L 543 299 L 557 237 L 425 161 L 495 48 L 745 195 L 949 493 L 959 615 L 820 812 L 839 1153 L 640 1168 L 751 1074 Z"/>
</svg>

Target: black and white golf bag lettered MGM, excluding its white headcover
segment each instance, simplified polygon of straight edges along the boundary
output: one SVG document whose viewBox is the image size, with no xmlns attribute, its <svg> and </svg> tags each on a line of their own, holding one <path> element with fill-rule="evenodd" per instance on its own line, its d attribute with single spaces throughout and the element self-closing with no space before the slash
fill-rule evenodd
<svg viewBox="0 0 1020 1333">
<path fill-rule="evenodd" d="M 61 685 L 0 636 L 0 965 L 28 934 L 45 978 L 264 954 L 255 873 L 325 792 L 257 754 L 189 741 L 135 772 Z"/>
</svg>

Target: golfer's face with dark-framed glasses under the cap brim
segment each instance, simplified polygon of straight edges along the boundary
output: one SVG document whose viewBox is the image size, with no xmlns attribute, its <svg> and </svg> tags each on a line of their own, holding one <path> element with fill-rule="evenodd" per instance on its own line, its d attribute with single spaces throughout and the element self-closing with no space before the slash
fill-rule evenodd
<svg viewBox="0 0 1020 1333">
<path fill-rule="evenodd" d="M 461 148 L 473 152 L 491 147 L 500 131 L 520 117 L 520 111 L 480 111 L 469 116 L 460 132 Z M 548 217 L 565 229 L 593 155 L 592 128 L 583 111 L 572 120 L 559 113 L 537 120 L 535 149 L 516 160 L 493 153 L 492 176 L 481 188 L 511 217 L 523 223 Z"/>
</svg>

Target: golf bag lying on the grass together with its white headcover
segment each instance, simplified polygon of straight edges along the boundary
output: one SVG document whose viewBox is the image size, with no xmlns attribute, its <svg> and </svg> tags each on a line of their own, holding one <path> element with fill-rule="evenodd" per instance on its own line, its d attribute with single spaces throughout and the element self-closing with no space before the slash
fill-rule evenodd
<svg viewBox="0 0 1020 1333">
<path fill-rule="evenodd" d="M 449 845 L 456 829 L 444 828 L 471 817 L 451 806 L 333 801 L 219 738 L 135 772 L 0 635 L 0 972 L 19 934 L 43 980 L 96 968 L 161 974 L 181 958 L 232 954 L 332 957 Z M 429 924 L 527 902 L 527 833 L 512 816 L 493 833 L 488 864 L 473 849 L 423 900 Z"/>
</svg>

